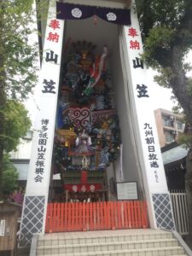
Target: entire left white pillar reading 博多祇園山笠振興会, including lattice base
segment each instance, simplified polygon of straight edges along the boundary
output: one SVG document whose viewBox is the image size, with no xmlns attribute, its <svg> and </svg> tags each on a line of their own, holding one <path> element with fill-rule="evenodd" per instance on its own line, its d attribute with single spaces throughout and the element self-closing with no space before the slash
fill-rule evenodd
<svg viewBox="0 0 192 256">
<path fill-rule="evenodd" d="M 30 244 L 32 234 L 44 233 L 55 136 L 63 30 L 64 20 L 56 19 L 55 1 L 50 1 L 42 69 L 38 83 L 39 109 L 32 139 L 32 154 L 21 219 L 21 238 L 26 237 L 26 244 Z"/>
</svg>

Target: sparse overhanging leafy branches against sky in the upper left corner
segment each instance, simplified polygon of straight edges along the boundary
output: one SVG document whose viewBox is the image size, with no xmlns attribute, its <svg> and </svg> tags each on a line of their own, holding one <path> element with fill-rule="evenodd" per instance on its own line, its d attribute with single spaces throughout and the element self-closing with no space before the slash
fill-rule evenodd
<svg viewBox="0 0 192 256">
<path fill-rule="evenodd" d="M 0 1 L 0 83 L 7 97 L 26 98 L 37 83 L 38 46 L 32 44 L 32 0 Z M 34 29 L 33 29 L 34 27 Z"/>
</svg>

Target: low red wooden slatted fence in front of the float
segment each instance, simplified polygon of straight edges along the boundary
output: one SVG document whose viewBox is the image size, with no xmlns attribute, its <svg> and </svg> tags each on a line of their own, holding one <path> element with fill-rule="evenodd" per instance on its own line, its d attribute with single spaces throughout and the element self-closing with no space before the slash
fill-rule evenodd
<svg viewBox="0 0 192 256">
<path fill-rule="evenodd" d="M 145 201 L 49 203 L 46 233 L 148 228 Z"/>
</svg>

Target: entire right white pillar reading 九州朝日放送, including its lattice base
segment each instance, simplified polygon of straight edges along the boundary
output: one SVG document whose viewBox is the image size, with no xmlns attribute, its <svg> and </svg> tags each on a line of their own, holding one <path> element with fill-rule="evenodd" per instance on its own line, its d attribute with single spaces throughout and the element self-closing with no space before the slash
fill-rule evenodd
<svg viewBox="0 0 192 256">
<path fill-rule="evenodd" d="M 146 78 L 146 67 L 141 57 L 143 54 L 141 32 L 137 13 L 133 7 L 131 9 L 131 26 L 123 27 L 122 38 L 126 55 L 125 65 L 127 67 L 127 78 L 131 94 L 133 122 L 137 135 L 138 157 L 142 165 L 150 224 L 154 228 L 167 227 L 166 224 L 158 223 L 158 218 L 161 217 L 156 214 L 158 209 L 155 204 L 160 205 L 159 198 L 161 195 L 166 198 L 171 208 L 170 219 L 172 218 L 172 207 L 169 201 L 166 175 L 154 120 L 153 99 L 150 93 L 152 84 L 148 84 Z M 155 201 L 156 197 L 157 201 Z M 162 214 L 165 209 L 166 202 L 160 208 Z"/>
</svg>

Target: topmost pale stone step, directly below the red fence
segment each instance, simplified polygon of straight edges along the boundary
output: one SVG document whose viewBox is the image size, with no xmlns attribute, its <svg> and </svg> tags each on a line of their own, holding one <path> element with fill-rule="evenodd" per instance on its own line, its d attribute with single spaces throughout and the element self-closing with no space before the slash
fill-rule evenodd
<svg viewBox="0 0 192 256">
<path fill-rule="evenodd" d="M 83 236 L 82 236 L 83 235 Z M 105 230 L 88 231 L 88 232 L 72 232 L 72 233 L 57 233 L 38 236 L 38 247 L 47 245 L 63 245 L 63 244 L 82 244 L 95 242 L 110 242 L 110 241 L 143 241 L 154 239 L 170 239 L 171 232 L 164 230 Z"/>
</svg>

